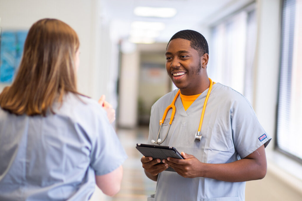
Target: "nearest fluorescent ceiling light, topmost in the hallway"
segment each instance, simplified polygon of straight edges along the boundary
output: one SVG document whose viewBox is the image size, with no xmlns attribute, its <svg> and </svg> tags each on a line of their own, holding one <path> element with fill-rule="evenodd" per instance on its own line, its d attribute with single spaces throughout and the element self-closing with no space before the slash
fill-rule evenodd
<svg viewBox="0 0 302 201">
<path fill-rule="evenodd" d="M 134 8 L 134 14 L 143 17 L 174 17 L 176 9 L 139 6 Z"/>
</svg>

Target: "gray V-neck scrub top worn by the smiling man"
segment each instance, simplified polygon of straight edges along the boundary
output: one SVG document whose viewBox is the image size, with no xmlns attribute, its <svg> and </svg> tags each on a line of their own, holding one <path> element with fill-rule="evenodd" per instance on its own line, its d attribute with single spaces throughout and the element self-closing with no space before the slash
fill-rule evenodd
<svg viewBox="0 0 302 201">
<path fill-rule="evenodd" d="M 156 141 L 159 121 L 171 104 L 178 89 L 161 97 L 151 109 L 149 138 Z M 260 125 L 254 110 L 242 94 L 230 87 L 216 83 L 212 87 L 201 127 L 201 142 L 194 142 L 201 111 L 208 89 L 185 111 L 178 96 L 176 113 L 163 146 L 175 147 L 178 152 L 194 155 L 204 163 L 229 163 L 242 159 L 271 140 Z M 172 109 L 169 110 L 160 131 L 164 138 Z M 210 178 L 184 178 L 176 172 L 159 173 L 155 198 L 157 201 L 224 201 L 244 200 L 245 182 L 226 182 Z"/>
</svg>

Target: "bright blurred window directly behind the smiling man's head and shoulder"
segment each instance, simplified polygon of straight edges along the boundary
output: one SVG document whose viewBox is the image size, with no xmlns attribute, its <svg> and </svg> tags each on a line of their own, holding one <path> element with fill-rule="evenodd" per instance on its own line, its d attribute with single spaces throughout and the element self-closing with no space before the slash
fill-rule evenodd
<svg viewBox="0 0 302 201">
<path fill-rule="evenodd" d="M 209 76 L 244 94 L 252 103 L 257 34 L 255 5 L 249 5 L 212 27 Z"/>
</svg>

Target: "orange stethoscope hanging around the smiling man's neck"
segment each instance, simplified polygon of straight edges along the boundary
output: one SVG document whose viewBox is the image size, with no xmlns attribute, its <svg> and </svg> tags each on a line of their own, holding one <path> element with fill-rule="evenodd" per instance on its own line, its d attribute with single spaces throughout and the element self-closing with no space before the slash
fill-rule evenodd
<svg viewBox="0 0 302 201">
<path fill-rule="evenodd" d="M 212 86 L 213 86 L 213 84 L 215 84 L 215 82 L 213 82 L 210 78 L 209 78 L 209 80 L 210 80 L 210 87 L 209 87 L 209 91 L 207 92 L 206 99 L 204 100 L 204 107 L 202 108 L 201 118 L 200 118 L 200 122 L 199 122 L 199 127 L 198 127 L 198 131 L 195 133 L 194 142 L 196 142 L 196 141 L 200 142 L 200 141 L 201 141 L 202 135 L 199 135 L 199 134 L 200 134 L 200 130 L 201 130 L 202 121 L 203 121 L 203 119 L 204 119 L 204 111 L 206 110 L 207 100 L 209 99 L 209 96 L 210 96 L 210 93 L 211 93 L 211 90 L 212 90 Z M 175 111 L 176 111 L 176 108 L 175 108 L 175 101 L 176 101 L 176 99 L 177 99 L 179 93 L 180 93 L 180 90 L 177 91 L 177 93 L 176 93 L 176 95 L 175 95 L 175 97 L 174 97 L 172 103 L 165 109 L 164 115 L 162 116 L 162 120 L 159 121 L 160 127 L 159 127 L 159 131 L 158 131 L 158 134 L 157 134 L 157 139 L 156 139 L 156 141 L 155 141 L 155 140 L 151 140 L 152 143 L 155 143 L 155 144 L 162 144 L 162 143 L 165 141 L 165 139 L 167 138 L 167 135 L 168 135 L 170 126 L 171 126 L 172 121 L 173 121 L 173 119 L 174 119 L 174 115 L 175 115 Z M 171 118 L 170 118 L 170 122 L 169 122 L 168 131 L 167 131 L 167 133 L 166 133 L 166 136 L 165 136 L 164 140 L 162 141 L 162 140 L 159 138 L 159 132 L 160 132 L 160 130 L 161 130 L 161 128 L 162 128 L 162 124 L 163 124 L 164 121 L 165 121 L 165 118 L 166 118 L 166 116 L 167 116 L 167 113 L 168 113 L 168 111 L 169 111 L 171 108 L 172 108 L 172 114 L 171 114 Z"/>
</svg>

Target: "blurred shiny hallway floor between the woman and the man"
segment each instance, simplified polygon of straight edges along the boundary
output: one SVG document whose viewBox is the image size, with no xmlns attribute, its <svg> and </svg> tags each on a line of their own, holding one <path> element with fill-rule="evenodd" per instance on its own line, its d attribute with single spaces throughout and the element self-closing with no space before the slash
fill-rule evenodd
<svg viewBox="0 0 302 201">
<path fill-rule="evenodd" d="M 124 176 L 120 191 L 113 197 L 104 196 L 99 189 L 95 190 L 90 201 L 146 201 L 150 194 L 154 194 L 156 182 L 146 177 L 140 158 L 143 156 L 136 148 L 137 143 L 146 143 L 148 127 L 134 129 L 116 129 L 118 138 L 123 145 L 128 158 L 123 163 Z"/>
</svg>

